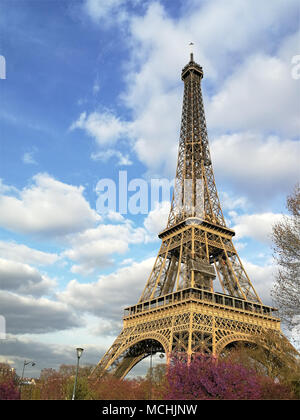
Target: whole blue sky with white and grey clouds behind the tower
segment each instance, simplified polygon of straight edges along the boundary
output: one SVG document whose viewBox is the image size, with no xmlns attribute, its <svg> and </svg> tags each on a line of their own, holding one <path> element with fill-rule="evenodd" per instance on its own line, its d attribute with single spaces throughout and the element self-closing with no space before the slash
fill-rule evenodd
<svg viewBox="0 0 300 420">
<path fill-rule="evenodd" d="M 80 346 L 96 363 L 120 331 L 169 205 L 103 214 L 99 181 L 118 193 L 126 174 L 130 201 L 135 180 L 174 178 L 191 41 L 221 204 L 272 304 L 271 227 L 299 180 L 298 25 L 297 0 L 1 0 L 0 361 L 38 375 Z"/>
</svg>

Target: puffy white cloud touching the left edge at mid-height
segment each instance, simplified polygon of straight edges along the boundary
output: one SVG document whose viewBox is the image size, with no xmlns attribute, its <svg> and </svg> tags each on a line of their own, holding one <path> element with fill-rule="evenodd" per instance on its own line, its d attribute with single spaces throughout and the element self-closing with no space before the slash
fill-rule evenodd
<svg viewBox="0 0 300 420">
<path fill-rule="evenodd" d="M 83 196 L 84 188 L 57 181 L 47 174 L 19 197 L 0 196 L 0 225 L 6 229 L 37 235 L 65 235 L 83 230 L 100 220 Z"/>
</svg>

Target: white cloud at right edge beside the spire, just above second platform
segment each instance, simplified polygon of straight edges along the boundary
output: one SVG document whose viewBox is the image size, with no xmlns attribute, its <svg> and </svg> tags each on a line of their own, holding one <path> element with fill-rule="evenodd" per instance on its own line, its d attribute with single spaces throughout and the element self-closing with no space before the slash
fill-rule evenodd
<svg viewBox="0 0 300 420">
<path fill-rule="evenodd" d="M 299 178 L 300 143 L 240 132 L 217 137 L 211 144 L 216 179 L 237 192 L 264 200 L 288 191 Z"/>
</svg>

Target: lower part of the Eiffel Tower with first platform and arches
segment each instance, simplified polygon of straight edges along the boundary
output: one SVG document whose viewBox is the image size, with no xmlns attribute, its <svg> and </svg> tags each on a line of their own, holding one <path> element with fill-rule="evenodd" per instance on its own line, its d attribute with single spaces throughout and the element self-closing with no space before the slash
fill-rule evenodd
<svg viewBox="0 0 300 420">
<path fill-rule="evenodd" d="M 219 355 L 231 343 L 280 332 L 274 308 L 222 293 L 188 288 L 128 307 L 123 330 L 92 376 L 123 378 L 142 359 L 162 352 Z"/>
</svg>

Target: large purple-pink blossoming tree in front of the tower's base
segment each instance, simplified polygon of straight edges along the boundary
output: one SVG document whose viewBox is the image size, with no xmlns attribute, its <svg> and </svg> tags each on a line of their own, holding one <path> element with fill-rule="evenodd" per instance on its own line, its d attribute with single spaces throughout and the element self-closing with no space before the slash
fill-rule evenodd
<svg viewBox="0 0 300 420">
<path fill-rule="evenodd" d="M 239 363 L 209 355 L 195 355 L 190 363 L 173 356 L 167 371 L 167 400 L 292 399 L 285 384 Z"/>
</svg>

